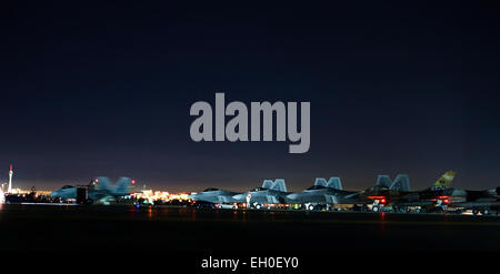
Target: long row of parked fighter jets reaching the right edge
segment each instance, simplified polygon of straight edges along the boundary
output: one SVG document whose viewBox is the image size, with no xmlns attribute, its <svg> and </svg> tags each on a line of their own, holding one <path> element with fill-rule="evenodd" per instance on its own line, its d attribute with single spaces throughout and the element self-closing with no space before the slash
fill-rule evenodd
<svg viewBox="0 0 500 274">
<path fill-rule="evenodd" d="M 288 192 L 284 180 L 264 180 L 262 187 L 236 193 L 220 189 L 208 189 L 192 194 L 198 202 L 219 205 L 262 209 L 278 204 L 300 204 L 307 210 L 336 205 L 351 205 L 353 209 L 373 212 L 396 211 L 418 212 L 472 210 L 474 214 L 490 214 L 500 210 L 500 186 L 492 190 L 471 191 L 451 187 L 456 172 L 446 172 L 430 187 L 411 191 L 408 175 L 399 174 L 392 181 L 388 175 L 379 175 L 376 185 L 364 191 L 346 191 L 340 177 L 316 179 L 314 185 L 302 192 Z"/>
</svg>

